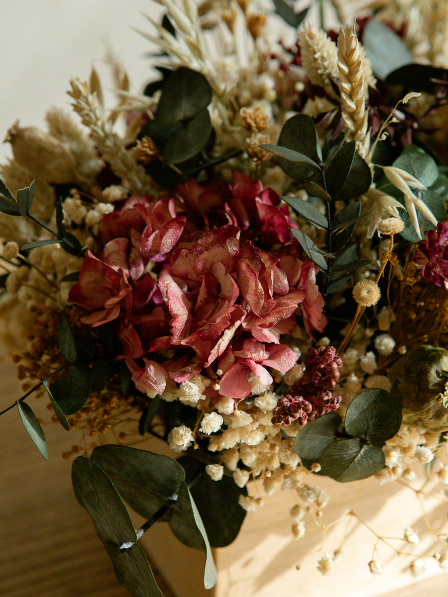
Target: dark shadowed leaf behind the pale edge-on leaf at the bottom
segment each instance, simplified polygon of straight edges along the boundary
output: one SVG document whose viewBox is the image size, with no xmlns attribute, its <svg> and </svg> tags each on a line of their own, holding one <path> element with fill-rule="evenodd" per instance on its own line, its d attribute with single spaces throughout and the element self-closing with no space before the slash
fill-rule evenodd
<svg viewBox="0 0 448 597">
<path fill-rule="evenodd" d="M 195 504 L 204 523 L 212 547 L 225 547 L 237 538 L 243 524 L 246 510 L 238 503 L 241 495 L 247 496 L 247 489 L 241 489 L 231 476 L 224 475 L 220 481 L 213 481 L 205 473 L 204 464 L 192 456 L 177 460 L 183 467 L 186 479 L 197 478 L 190 487 Z M 202 474 L 199 474 L 202 473 Z M 210 507 L 213 504 L 213 508 Z"/>
</svg>

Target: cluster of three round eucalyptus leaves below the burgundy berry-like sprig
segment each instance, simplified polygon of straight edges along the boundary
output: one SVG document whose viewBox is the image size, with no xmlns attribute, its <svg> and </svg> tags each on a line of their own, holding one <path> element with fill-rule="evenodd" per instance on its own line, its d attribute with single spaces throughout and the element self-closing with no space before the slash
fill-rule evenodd
<svg viewBox="0 0 448 597">
<path fill-rule="evenodd" d="M 397 399 L 380 388 L 364 390 L 349 405 L 345 421 L 335 412 L 307 423 L 294 439 L 303 466 L 339 482 L 375 475 L 385 466 L 382 446 L 401 424 Z"/>
</svg>

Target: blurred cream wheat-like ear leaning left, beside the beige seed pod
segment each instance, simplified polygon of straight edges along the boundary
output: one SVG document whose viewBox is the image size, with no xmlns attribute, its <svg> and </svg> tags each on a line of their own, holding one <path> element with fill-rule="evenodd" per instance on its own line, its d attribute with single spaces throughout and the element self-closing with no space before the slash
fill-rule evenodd
<svg viewBox="0 0 448 597">
<path fill-rule="evenodd" d="M 106 117 L 96 93 L 91 93 L 87 82 L 78 78 L 70 79 L 70 85 L 72 89 L 67 93 L 75 100 L 72 104 L 73 109 L 81 116 L 82 124 L 90 128 L 91 136 L 105 161 L 111 165 L 113 173 L 127 183 L 131 193 L 146 195 L 154 192 L 151 178 L 142 166 L 137 164 L 120 137 L 113 132 L 112 124 Z"/>
</svg>

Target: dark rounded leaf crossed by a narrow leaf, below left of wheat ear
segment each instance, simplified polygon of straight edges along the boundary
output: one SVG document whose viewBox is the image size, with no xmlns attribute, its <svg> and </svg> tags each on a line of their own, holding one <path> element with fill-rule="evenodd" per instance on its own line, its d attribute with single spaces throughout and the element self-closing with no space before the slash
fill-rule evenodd
<svg viewBox="0 0 448 597">
<path fill-rule="evenodd" d="M 306 114 L 296 114 L 289 118 L 281 130 L 278 137 L 277 144 L 288 149 L 293 149 L 298 153 L 302 153 L 314 164 L 320 164 L 322 160 L 322 152 L 319 143 L 319 137 L 316 127 L 310 116 Z M 310 176 L 309 165 L 302 167 L 298 164 L 293 164 L 289 159 L 279 158 L 278 165 L 285 174 L 294 180 L 305 180 Z M 311 168 L 313 170 L 313 168 Z M 315 170 L 314 171 L 320 171 Z"/>
</svg>

